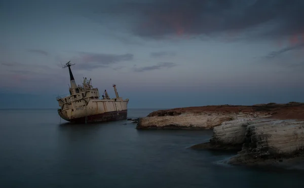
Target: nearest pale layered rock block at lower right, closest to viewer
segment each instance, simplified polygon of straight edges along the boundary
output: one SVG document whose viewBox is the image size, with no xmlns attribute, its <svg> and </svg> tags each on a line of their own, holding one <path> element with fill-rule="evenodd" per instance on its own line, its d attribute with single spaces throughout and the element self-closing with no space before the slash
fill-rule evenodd
<svg viewBox="0 0 304 188">
<path fill-rule="evenodd" d="M 304 151 L 303 120 L 263 120 L 247 126 L 242 150 L 229 162 L 252 164 L 293 158 Z"/>
</svg>

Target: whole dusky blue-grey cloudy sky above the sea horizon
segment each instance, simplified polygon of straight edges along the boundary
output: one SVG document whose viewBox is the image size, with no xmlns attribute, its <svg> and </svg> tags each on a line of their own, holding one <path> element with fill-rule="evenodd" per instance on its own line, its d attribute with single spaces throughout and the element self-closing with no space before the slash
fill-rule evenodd
<svg viewBox="0 0 304 188">
<path fill-rule="evenodd" d="M 304 1 L 0 0 L 0 108 L 75 80 L 130 108 L 304 102 Z"/>
</svg>

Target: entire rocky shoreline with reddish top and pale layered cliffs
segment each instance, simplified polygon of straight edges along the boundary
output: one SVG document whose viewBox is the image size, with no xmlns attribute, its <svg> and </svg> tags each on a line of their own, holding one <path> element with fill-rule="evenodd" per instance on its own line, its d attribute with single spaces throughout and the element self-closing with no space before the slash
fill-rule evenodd
<svg viewBox="0 0 304 188">
<path fill-rule="evenodd" d="M 303 161 L 304 104 L 205 106 L 159 110 L 139 118 L 137 129 L 213 129 L 192 149 L 236 151 L 233 165 Z M 301 159 L 301 160 L 299 160 Z"/>
</svg>

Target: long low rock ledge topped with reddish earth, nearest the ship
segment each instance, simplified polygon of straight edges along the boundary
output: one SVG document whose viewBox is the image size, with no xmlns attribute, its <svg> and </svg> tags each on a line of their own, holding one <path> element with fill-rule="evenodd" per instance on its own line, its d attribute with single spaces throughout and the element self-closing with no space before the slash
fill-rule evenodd
<svg viewBox="0 0 304 188">
<path fill-rule="evenodd" d="M 203 106 L 175 108 L 151 112 L 140 118 L 137 129 L 212 129 L 224 121 L 244 118 L 265 118 L 292 116 L 286 114 L 289 108 L 304 110 L 302 103 L 261 104 L 253 106 Z"/>
</svg>

